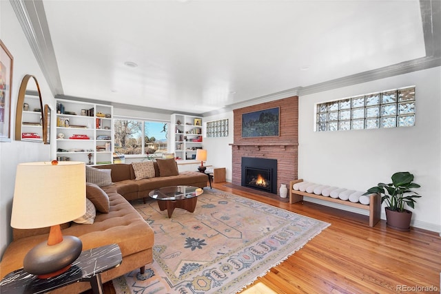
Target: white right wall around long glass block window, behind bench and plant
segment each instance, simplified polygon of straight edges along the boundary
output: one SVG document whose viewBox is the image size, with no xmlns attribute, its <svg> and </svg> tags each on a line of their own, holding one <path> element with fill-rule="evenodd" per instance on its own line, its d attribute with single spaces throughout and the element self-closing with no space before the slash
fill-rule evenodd
<svg viewBox="0 0 441 294">
<path fill-rule="evenodd" d="M 300 96 L 299 178 L 365 191 L 378 182 L 391 182 L 396 171 L 409 171 L 421 185 L 422 196 L 413 210 L 412 225 L 441 231 L 440 81 L 441 67 L 435 67 Z M 315 103 L 411 85 L 416 85 L 415 127 L 314 132 Z"/>
</svg>

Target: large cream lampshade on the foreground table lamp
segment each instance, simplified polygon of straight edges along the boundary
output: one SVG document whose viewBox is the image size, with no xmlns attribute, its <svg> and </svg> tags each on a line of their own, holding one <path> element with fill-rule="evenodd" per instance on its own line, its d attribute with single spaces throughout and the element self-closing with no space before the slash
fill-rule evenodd
<svg viewBox="0 0 441 294">
<path fill-rule="evenodd" d="M 84 213 L 84 162 L 28 162 L 17 166 L 11 227 L 51 227 Z"/>
</svg>

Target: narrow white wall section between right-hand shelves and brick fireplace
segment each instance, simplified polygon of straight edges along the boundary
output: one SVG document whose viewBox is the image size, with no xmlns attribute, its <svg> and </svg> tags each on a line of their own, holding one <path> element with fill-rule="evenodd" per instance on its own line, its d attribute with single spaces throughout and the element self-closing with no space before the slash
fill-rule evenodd
<svg viewBox="0 0 441 294">
<path fill-rule="evenodd" d="M 233 138 L 233 112 L 224 114 L 216 114 L 214 116 L 205 116 L 205 123 L 212 120 L 220 120 L 228 118 L 228 136 L 219 138 L 204 138 L 203 147 L 207 149 L 207 165 L 213 167 L 225 167 L 225 178 L 227 182 L 232 181 L 232 144 Z"/>
</svg>

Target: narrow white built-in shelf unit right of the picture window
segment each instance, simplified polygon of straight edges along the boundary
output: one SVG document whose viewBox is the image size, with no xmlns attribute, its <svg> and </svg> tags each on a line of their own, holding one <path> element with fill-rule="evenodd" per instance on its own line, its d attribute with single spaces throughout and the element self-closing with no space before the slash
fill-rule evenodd
<svg viewBox="0 0 441 294">
<path fill-rule="evenodd" d="M 196 149 L 202 149 L 202 117 L 172 114 L 172 152 L 177 160 L 194 160 Z"/>
</svg>

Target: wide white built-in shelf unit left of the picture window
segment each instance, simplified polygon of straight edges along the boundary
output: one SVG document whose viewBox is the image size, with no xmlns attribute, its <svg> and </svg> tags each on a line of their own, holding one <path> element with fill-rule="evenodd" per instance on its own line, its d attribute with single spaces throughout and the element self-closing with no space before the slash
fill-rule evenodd
<svg viewBox="0 0 441 294">
<path fill-rule="evenodd" d="M 112 117 L 112 105 L 57 99 L 57 160 L 113 163 Z"/>
</svg>

